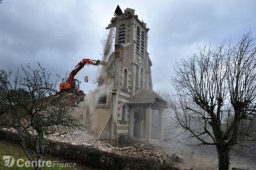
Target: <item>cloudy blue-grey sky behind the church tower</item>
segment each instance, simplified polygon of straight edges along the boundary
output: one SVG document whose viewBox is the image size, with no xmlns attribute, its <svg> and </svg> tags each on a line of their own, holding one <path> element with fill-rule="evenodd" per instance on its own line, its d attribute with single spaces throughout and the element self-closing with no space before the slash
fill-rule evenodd
<svg viewBox="0 0 256 170">
<path fill-rule="evenodd" d="M 17 70 L 20 64 L 65 76 L 83 58 L 101 59 L 106 27 L 116 6 L 134 9 L 147 23 L 148 52 L 155 91 L 170 90 L 176 61 L 197 46 L 238 39 L 256 30 L 254 0 L 82 1 L 3 0 L 0 4 L 0 69 Z M 96 85 L 99 67 L 86 67 L 76 78 L 87 93 Z M 89 76 L 89 83 L 84 83 Z"/>
</svg>

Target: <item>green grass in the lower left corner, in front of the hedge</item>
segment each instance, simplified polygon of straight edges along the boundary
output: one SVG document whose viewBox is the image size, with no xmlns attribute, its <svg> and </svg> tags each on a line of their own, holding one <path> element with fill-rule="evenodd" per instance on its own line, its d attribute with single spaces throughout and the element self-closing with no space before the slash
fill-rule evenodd
<svg viewBox="0 0 256 170">
<path fill-rule="evenodd" d="M 4 161 L 3 161 L 3 156 L 12 156 L 14 158 L 14 165 L 12 167 L 6 167 L 4 165 Z M 35 156 L 34 156 L 35 157 Z M 27 170 L 27 169 L 34 169 L 34 167 L 19 167 L 17 165 L 17 160 L 18 159 L 23 159 L 23 161 L 19 161 L 19 163 L 22 165 L 25 165 L 25 162 L 27 162 L 28 164 L 30 163 L 30 161 L 28 161 L 29 159 L 26 157 L 25 153 L 23 152 L 22 148 L 17 145 L 17 144 L 13 144 L 13 143 L 9 143 L 7 141 L 3 141 L 0 140 L 0 169 L 4 169 L 4 170 L 10 170 L 10 169 L 19 169 L 19 170 Z M 45 166 L 43 167 L 43 169 L 53 169 L 53 170 L 81 170 L 81 169 L 86 169 L 86 170 L 91 170 L 90 168 L 81 166 L 76 164 L 75 167 L 65 167 L 65 163 L 72 163 L 68 160 L 62 160 L 62 159 L 58 159 L 55 157 L 51 157 L 49 155 L 45 155 L 43 160 L 45 161 L 55 161 L 55 166 L 54 167 L 49 167 L 49 166 Z M 57 164 L 59 164 L 59 166 L 57 166 Z"/>
</svg>

